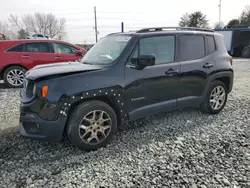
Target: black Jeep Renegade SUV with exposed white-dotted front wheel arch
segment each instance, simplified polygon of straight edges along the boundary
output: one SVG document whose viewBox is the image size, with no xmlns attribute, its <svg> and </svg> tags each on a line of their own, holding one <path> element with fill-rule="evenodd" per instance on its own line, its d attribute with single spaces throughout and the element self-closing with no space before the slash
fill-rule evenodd
<svg viewBox="0 0 250 188">
<path fill-rule="evenodd" d="M 84 150 L 118 125 L 199 106 L 219 113 L 233 86 L 223 36 L 198 28 L 146 28 L 102 38 L 80 62 L 37 66 L 21 90 L 20 133 Z"/>
</svg>

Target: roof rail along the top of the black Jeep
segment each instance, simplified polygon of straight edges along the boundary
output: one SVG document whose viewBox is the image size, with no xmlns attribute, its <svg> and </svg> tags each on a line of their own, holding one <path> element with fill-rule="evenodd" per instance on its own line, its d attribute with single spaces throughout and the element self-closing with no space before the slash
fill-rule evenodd
<svg viewBox="0 0 250 188">
<path fill-rule="evenodd" d="M 163 31 L 163 30 L 189 30 L 189 31 L 206 31 L 214 32 L 212 29 L 196 28 L 196 27 L 151 27 L 138 30 L 136 33 Z"/>
</svg>

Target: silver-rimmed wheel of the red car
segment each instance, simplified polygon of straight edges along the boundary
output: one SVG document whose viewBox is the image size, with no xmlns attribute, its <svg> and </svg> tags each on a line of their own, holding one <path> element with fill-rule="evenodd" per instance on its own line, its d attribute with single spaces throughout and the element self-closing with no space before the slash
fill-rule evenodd
<svg viewBox="0 0 250 188">
<path fill-rule="evenodd" d="M 21 67 L 21 66 L 11 66 L 8 67 L 4 72 L 3 72 L 3 80 L 4 84 L 7 87 L 11 88 L 20 88 L 23 85 L 23 79 L 24 79 L 24 73 L 26 72 L 26 69 Z M 11 81 L 11 76 L 14 75 L 19 75 L 20 79 L 15 79 Z M 15 82 L 16 81 L 16 82 Z"/>
</svg>

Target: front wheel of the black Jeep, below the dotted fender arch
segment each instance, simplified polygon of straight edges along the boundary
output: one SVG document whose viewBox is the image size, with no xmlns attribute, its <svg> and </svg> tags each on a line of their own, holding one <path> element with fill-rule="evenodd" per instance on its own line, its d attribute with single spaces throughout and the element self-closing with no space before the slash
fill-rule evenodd
<svg viewBox="0 0 250 188">
<path fill-rule="evenodd" d="M 105 120 L 103 123 L 102 121 L 93 121 L 92 123 L 86 121 L 87 119 L 90 120 L 94 113 L 100 118 L 101 112 L 103 112 L 102 117 Z M 83 121 L 83 119 L 86 120 Z M 73 145 L 85 151 L 92 151 L 106 146 L 112 139 L 116 129 L 116 113 L 108 104 L 102 101 L 87 101 L 78 105 L 70 114 L 67 124 L 67 136 Z M 81 136 L 84 136 L 83 139 Z M 96 136 L 99 142 L 97 142 Z M 88 141 L 88 138 L 92 139 Z"/>
</svg>

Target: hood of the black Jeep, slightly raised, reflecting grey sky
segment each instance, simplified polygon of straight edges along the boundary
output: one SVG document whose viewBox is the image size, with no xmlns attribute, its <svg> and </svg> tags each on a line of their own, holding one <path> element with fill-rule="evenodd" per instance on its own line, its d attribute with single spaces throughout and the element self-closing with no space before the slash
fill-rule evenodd
<svg viewBox="0 0 250 188">
<path fill-rule="evenodd" d="M 100 70 L 102 68 L 103 65 L 88 65 L 79 62 L 51 63 L 33 67 L 26 72 L 25 77 L 29 80 L 36 80 L 47 76 L 80 73 L 85 71 Z"/>
</svg>

